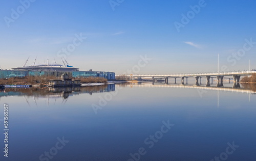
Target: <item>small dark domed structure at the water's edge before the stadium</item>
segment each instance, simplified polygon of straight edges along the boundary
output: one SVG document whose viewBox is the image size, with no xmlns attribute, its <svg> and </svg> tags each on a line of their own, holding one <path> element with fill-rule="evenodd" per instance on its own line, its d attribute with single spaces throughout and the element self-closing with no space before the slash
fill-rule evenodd
<svg viewBox="0 0 256 161">
<path fill-rule="evenodd" d="M 81 86 L 81 80 L 72 80 L 67 73 L 61 75 L 61 79 L 48 80 L 49 87 Z"/>
</svg>

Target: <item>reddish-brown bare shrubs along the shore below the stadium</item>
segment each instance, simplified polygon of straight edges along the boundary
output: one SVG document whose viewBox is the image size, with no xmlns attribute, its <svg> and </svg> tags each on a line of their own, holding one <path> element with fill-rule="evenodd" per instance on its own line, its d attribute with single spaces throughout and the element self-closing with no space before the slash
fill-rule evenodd
<svg viewBox="0 0 256 161">
<path fill-rule="evenodd" d="M 72 77 L 71 77 L 72 78 Z M 48 81 L 51 79 L 61 79 L 56 76 L 25 76 L 25 77 L 11 77 L 0 79 L 0 85 L 36 85 L 45 84 L 48 85 Z M 81 80 L 82 84 L 89 83 L 104 83 L 108 82 L 108 79 L 102 77 L 82 77 L 82 78 L 72 78 Z"/>
</svg>

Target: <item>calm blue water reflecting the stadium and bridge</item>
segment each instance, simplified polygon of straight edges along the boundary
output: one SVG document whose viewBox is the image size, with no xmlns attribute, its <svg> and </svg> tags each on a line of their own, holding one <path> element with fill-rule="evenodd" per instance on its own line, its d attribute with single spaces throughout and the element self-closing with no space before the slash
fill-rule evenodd
<svg viewBox="0 0 256 161">
<path fill-rule="evenodd" d="M 4 151 L 7 103 L 9 149 L 0 160 L 256 160 L 255 94 L 223 90 L 232 84 L 172 85 L 83 88 L 65 99 L 59 91 L 2 91 L 0 145 Z"/>
</svg>

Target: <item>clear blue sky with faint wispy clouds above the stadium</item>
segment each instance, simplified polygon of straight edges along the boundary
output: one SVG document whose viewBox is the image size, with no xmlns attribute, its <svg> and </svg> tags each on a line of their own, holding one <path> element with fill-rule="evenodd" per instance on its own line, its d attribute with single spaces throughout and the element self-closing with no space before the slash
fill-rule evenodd
<svg viewBox="0 0 256 161">
<path fill-rule="evenodd" d="M 72 45 L 80 34 L 86 39 L 66 55 L 80 70 L 122 74 L 147 55 L 152 60 L 136 72 L 216 71 L 218 53 L 221 66 L 229 70 L 247 70 L 249 60 L 256 68 L 256 43 L 245 40 L 256 42 L 255 1 L 112 2 L 121 3 L 113 10 L 109 0 L 36 0 L 22 10 L 20 1 L 2 1 L 1 68 L 22 66 L 29 56 L 28 64 L 35 57 L 37 62 L 49 57 L 61 63 L 58 51 Z M 200 7 L 198 13 L 190 8 L 195 5 Z M 12 9 L 20 9 L 18 18 L 12 17 Z M 189 22 L 178 32 L 175 22 L 182 24 L 182 14 L 187 17 L 187 13 Z"/>
</svg>

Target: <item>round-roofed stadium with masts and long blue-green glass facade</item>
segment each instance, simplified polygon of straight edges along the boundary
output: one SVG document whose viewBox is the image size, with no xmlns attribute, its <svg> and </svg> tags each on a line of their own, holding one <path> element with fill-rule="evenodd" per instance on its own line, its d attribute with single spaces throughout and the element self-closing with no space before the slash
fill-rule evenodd
<svg viewBox="0 0 256 161">
<path fill-rule="evenodd" d="M 28 61 L 28 60 L 27 60 Z M 26 61 L 26 63 L 27 63 Z M 66 61 L 66 60 L 65 60 Z M 67 62 L 67 61 L 66 61 Z M 25 65 L 26 65 L 25 63 Z M 63 65 L 55 63 L 37 63 L 30 66 L 16 67 L 13 70 L 0 70 L 0 78 L 10 77 L 24 77 L 24 76 L 61 76 L 63 73 L 67 73 L 72 77 L 103 77 L 106 79 L 115 79 L 114 72 L 106 71 L 79 71 L 79 68 L 70 66 L 68 63 Z"/>
</svg>

